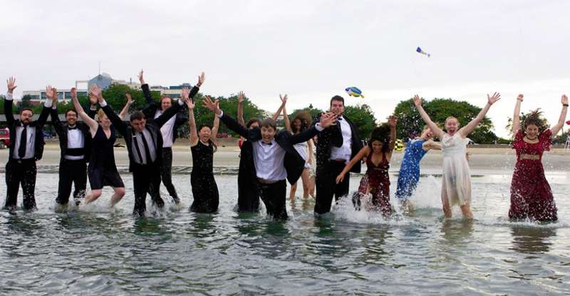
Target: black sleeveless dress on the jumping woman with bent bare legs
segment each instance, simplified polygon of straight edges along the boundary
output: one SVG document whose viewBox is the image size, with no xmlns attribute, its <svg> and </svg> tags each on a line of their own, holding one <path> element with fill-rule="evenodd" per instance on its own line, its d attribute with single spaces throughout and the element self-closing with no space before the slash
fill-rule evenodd
<svg viewBox="0 0 570 296">
<path fill-rule="evenodd" d="M 120 178 L 117 165 L 115 165 L 115 150 L 113 145 L 117 136 L 115 128 L 110 126 L 111 135 L 105 136 L 101 126 L 98 126 L 95 136 L 91 141 L 91 158 L 87 173 L 91 190 L 101 189 L 103 186 L 125 187 Z"/>
</svg>

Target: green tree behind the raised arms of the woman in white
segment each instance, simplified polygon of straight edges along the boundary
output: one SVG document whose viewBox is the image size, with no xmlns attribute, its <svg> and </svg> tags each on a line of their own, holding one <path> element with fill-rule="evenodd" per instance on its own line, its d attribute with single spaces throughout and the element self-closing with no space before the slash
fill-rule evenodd
<svg viewBox="0 0 570 296">
<path fill-rule="evenodd" d="M 435 98 L 432 101 L 424 101 L 422 105 L 432 121 L 440 123 L 441 126 L 445 123 L 445 118 L 449 116 L 454 116 L 461 126 L 465 126 L 481 111 L 481 108 L 466 101 L 455 101 L 451 98 Z M 415 109 L 412 98 L 398 103 L 394 114 L 398 116 L 396 128 L 398 138 L 408 138 L 421 133 L 425 123 Z M 469 138 L 475 143 L 494 143 L 497 136 L 492 132 L 492 128 L 492 121 L 484 117 Z"/>
</svg>

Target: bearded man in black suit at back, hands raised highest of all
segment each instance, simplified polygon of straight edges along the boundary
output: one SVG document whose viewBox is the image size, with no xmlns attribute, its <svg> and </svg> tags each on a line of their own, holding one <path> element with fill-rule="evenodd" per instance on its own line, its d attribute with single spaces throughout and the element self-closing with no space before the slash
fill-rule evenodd
<svg viewBox="0 0 570 296">
<path fill-rule="evenodd" d="M 155 118 L 158 118 L 165 112 L 170 106 L 172 106 L 172 98 L 169 96 L 162 96 L 160 98 L 160 104 L 157 103 L 152 98 L 150 93 L 150 88 L 148 84 L 145 83 L 145 78 L 143 76 L 143 71 L 141 70 L 139 73 L 139 81 L 142 88 L 142 93 L 145 95 L 145 100 L 147 106 L 142 110 L 142 113 L 145 114 L 145 118 L 148 121 L 153 121 Z M 204 83 L 204 73 L 198 77 L 198 83 L 192 87 L 190 91 L 190 98 L 193 98 L 196 93 L 199 91 L 199 87 L 202 86 Z M 186 114 L 186 108 L 182 108 L 180 112 L 176 113 L 176 116 L 170 118 L 163 126 L 160 128 L 160 132 L 162 133 L 162 165 L 160 166 L 160 175 L 162 177 L 162 184 L 165 185 L 166 190 L 168 190 L 168 194 L 172 197 L 175 203 L 180 203 L 180 198 L 176 193 L 176 188 L 174 184 L 172 184 L 172 145 L 174 145 L 177 134 L 178 128 L 180 126 L 185 125 L 188 123 L 188 116 Z"/>
</svg>

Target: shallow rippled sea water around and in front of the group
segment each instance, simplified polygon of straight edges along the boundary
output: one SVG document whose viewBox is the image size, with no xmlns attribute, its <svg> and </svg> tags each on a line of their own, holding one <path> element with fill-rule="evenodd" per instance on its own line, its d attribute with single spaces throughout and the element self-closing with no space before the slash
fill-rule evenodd
<svg viewBox="0 0 570 296">
<path fill-rule="evenodd" d="M 508 174 L 472 178 L 475 220 L 442 219 L 427 175 L 412 215 L 353 210 L 345 198 L 315 218 L 288 200 L 284 223 L 238 214 L 236 175 L 216 175 L 218 213 L 190 213 L 190 175 L 173 175 L 183 207 L 135 218 L 133 184 L 107 207 L 54 210 L 57 174 L 38 173 L 39 210 L 0 211 L 3 295 L 556 295 L 570 293 L 570 175 L 547 173 L 559 208 L 550 224 L 512 223 Z M 351 191 L 359 176 L 352 175 Z M 391 193 L 396 177 L 391 176 Z M 289 188 L 288 188 L 289 190 Z M 6 192 L 4 182 L 0 192 Z M 165 188 L 161 189 L 167 196 Z M 301 185 L 299 191 L 301 193 Z M 20 193 L 21 194 L 21 193 Z M 5 195 L 0 202 L 4 203 Z M 19 198 L 19 204 L 21 197 Z M 394 203 L 393 203 L 394 204 Z"/>
</svg>

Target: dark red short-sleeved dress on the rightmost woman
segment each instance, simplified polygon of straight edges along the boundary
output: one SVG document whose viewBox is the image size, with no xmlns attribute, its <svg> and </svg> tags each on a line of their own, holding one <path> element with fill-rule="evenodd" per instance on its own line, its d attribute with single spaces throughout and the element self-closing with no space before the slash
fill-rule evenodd
<svg viewBox="0 0 570 296">
<path fill-rule="evenodd" d="M 552 133 L 550 130 L 542 132 L 537 143 L 524 142 L 523 138 L 521 130 L 512 144 L 517 151 L 517 164 L 512 174 L 509 218 L 556 221 L 556 204 L 541 162 L 542 153 L 550 150 Z M 522 154 L 539 155 L 539 159 L 521 159 Z"/>
</svg>

